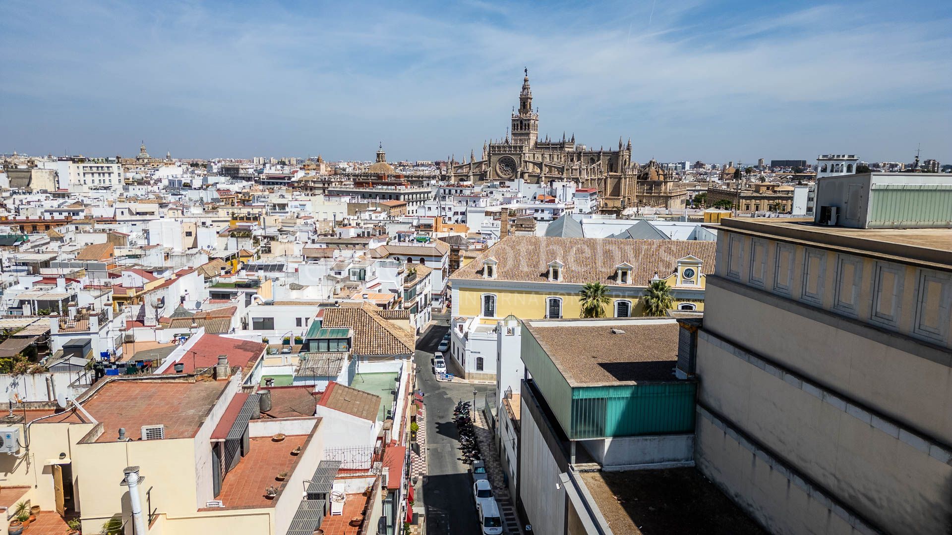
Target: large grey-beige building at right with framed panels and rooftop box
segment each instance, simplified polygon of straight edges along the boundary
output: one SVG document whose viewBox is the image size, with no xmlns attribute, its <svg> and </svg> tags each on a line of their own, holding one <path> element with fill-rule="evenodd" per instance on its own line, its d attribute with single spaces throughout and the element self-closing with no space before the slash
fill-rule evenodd
<svg viewBox="0 0 952 535">
<path fill-rule="evenodd" d="M 952 188 L 836 176 L 816 204 L 718 228 L 696 466 L 772 533 L 948 533 Z"/>
</svg>

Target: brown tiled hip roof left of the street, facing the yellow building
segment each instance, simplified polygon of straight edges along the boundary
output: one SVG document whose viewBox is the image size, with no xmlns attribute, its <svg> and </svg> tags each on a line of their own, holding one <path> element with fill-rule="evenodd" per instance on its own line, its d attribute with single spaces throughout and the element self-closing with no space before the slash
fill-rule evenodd
<svg viewBox="0 0 952 535">
<path fill-rule="evenodd" d="M 360 307 L 333 307 L 324 310 L 322 327 L 353 329 L 352 352 L 357 355 L 413 354 L 416 336 L 413 332 L 387 321 L 369 303 Z"/>
</svg>

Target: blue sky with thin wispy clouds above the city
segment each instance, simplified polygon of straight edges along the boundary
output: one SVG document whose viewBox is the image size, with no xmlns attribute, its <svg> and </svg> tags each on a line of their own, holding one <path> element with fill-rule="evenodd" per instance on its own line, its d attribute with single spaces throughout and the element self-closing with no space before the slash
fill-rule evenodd
<svg viewBox="0 0 952 535">
<path fill-rule="evenodd" d="M 0 152 L 952 163 L 952 2 L 0 2 Z"/>
</svg>

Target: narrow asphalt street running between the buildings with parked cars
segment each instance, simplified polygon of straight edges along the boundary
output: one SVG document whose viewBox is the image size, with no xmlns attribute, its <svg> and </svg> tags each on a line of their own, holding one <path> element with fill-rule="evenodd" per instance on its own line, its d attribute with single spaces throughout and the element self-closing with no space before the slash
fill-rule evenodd
<svg viewBox="0 0 952 535">
<path fill-rule="evenodd" d="M 479 535 L 481 530 L 473 504 L 472 480 L 460 457 L 459 433 L 453 423 L 453 407 L 460 400 L 476 398 L 483 406 L 489 385 L 466 385 L 436 380 L 430 359 L 449 328 L 446 321 L 430 327 L 417 341 L 417 388 L 424 391 L 426 404 L 427 475 L 423 480 L 426 528 L 431 533 Z"/>
</svg>

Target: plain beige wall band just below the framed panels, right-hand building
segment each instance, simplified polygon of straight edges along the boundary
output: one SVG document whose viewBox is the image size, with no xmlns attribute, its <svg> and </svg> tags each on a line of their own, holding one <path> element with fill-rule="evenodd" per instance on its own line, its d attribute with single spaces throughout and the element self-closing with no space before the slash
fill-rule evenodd
<svg viewBox="0 0 952 535">
<path fill-rule="evenodd" d="M 791 313 L 723 284 L 708 285 L 707 292 L 711 310 L 704 314 L 704 330 L 743 341 L 753 353 L 768 355 L 820 385 L 952 444 L 952 368 L 884 344 L 896 337 L 873 328 L 865 328 L 865 336 L 863 329 L 848 332 L 838 328 L 835 317 Z M 803 310 L 795 303 L 783 304 Z M 882 342 L 872 338 L 877 334 Z M 913 350 L 927 348 L 908 343 Z M 704 357 L 699 350 L 699 368 Z M 704 391 L 702 385 L 702 395 Z"/>
</svg>

